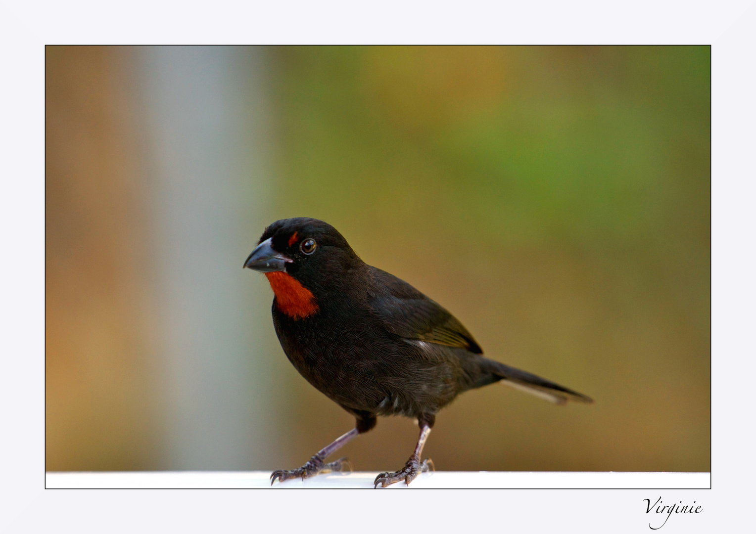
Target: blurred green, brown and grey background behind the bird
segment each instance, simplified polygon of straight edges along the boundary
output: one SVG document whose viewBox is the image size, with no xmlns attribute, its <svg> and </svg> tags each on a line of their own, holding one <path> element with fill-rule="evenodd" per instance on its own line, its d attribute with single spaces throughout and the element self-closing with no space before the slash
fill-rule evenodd
<svg viewBox="0 0 756 534">
<path fill-rule="evenodd" d="M 708 46 L 45 54 L 48 471 L 294 468 L 352 428 L 241 268 L 293 216 L 596 400 L 471 391 L 437 468 L 710 471 Z M 344 454 L 416 439 L 383 418 Z"/>
</svg>

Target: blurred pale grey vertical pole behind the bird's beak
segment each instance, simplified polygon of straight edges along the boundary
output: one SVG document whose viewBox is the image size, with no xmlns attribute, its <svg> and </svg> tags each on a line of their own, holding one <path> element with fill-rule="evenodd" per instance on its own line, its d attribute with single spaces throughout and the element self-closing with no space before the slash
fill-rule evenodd
<svg viewBox="0 0 756 534">
<path fill-rule="evenodd" d="M 275 434 L 259 343 L 270 322 L 259 302 L 269 298 L 264 286 L 249 284 L 242 264 L 265 221 L 264 52 L 148 47 L 140 53 L 163 322 L 167 412 L 160 463 L 260 468 Z"/>
</svg>

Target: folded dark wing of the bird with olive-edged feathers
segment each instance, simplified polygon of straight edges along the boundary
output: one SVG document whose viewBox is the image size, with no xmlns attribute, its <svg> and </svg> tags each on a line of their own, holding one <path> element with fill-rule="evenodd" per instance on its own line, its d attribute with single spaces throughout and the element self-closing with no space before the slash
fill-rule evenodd
<svg viewBox="0 0 756 534">
<path fill-rule="evenodd" d="M 405 339 L 483 353 L 462 323 L 441 305 L 404 280 L 376 267 L 370 269 L 375 281 L 370 307 L 389 332 Z"/>
</svg>

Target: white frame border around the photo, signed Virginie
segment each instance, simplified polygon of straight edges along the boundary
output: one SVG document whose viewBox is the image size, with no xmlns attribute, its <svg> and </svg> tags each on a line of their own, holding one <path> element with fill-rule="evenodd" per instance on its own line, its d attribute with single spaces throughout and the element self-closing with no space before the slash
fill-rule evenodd
<svg viewBox="0 0 756 534">
<path fill-rule="evenodd" d="M 0 529 L 647 532 L 643 499 L 658 496 L 703 506 L 665 532 L 743 531 L 754 475 L 754 27 L 753 2 L 3 2 Z M 43 489 L 43 46 L 139 42 L 711 43 L 712 489 Z"/>
</svg>

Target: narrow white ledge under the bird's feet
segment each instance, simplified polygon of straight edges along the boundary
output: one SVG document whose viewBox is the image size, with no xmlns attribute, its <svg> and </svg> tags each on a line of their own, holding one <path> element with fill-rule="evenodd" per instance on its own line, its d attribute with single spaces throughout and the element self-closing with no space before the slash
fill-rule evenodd
<svg viewBox="0 0 756 534">
<path fill-rule="evenodd" d="M 273 489 L 372 488 L 378 473 L 321 474 L 294 479 Z M 270 471 L 123 471 L 45 474 L 48 489 L 116 488 L 271 488 Z M 501 488 L 501 489 L 709 489 L 711 473 L 637 472 L 547 472 L 547 471 L 436 471 L 420 474 L 410 489 Z M 404 489 L 399 482 L 390 489 Z"/>
</svg>

